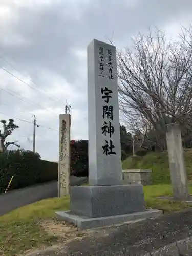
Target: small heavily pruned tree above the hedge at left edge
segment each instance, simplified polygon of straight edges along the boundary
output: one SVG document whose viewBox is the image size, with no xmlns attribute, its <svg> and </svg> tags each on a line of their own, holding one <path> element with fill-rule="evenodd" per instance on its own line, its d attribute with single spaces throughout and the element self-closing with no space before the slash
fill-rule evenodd
<svg viewBox="0 0 192 256">
<path fill-rule="evenodd" d="M 15 142 L 5 142 L 5 139 L 11 135 L 16 128 L 18 128 L 18 126 L 14 123 L 14 120 L 9 119 L 8 124 L 6 120 L 1 120 L 0 122 L 3 124 L 3 132 L 0 130 L 0 152 L 7 151 L 9 145 L 20 147 Z"/>
</svg>

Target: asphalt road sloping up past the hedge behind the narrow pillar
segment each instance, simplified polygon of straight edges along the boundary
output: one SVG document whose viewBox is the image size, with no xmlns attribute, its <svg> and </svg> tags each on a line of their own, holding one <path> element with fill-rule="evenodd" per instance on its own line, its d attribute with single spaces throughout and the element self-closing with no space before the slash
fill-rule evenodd
<svg viewBox="0 0 192 256">
<path fill-rule="evenodd" d="M 70 177 L 71 186 L 84 183 L 84 177 Z M 57 197 L 57 181 L 16 189 L 0 194 L 0 216 L 7 212 L 36 201 Z"/>
</svg>

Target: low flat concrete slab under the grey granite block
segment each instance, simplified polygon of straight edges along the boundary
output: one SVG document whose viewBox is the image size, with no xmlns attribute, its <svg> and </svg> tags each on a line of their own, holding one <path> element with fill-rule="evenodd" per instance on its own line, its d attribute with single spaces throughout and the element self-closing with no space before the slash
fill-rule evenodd
<svg viewBox="0 0 192 256">
<path fill-rule="evenodd" d="M 135 212 L 132 214 L 89 218 L 86 216 L 75 215 L 71 211 L 56 212 L 56 216 L 59 220 L 73 223 L 75 226 L 77 226 L 81 230 L 123 224 L 125 222 L 157 217 L 161 214 L 162 214 L 162 211 L 160 210 L 146 209 L 145 211 Z"/>
</svg>

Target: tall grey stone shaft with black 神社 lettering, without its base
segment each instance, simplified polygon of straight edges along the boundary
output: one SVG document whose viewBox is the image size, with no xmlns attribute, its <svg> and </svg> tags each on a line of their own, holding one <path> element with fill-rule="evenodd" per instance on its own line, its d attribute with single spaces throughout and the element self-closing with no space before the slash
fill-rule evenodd
<svg viewBox="0 0 192 256">
<path fill-rule="evenodd" d="M 116 47 L 88 46 L 89 185 L 121 185 Z"/>
</svg>

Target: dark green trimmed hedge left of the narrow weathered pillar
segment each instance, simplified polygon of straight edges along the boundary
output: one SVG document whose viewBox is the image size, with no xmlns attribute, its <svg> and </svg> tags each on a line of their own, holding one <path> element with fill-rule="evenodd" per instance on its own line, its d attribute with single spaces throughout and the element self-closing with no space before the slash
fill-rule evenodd
<svg viewBox="0 0 192 256">
<path fill-rule="evenodd" d="M 5 191 L 13 175 L 9 190 L 56 180 L 57 172 L 57 163 L 40 160 L 37 153 L 23 150 L 1 153 L 0 193 Z"/>
</svg>

